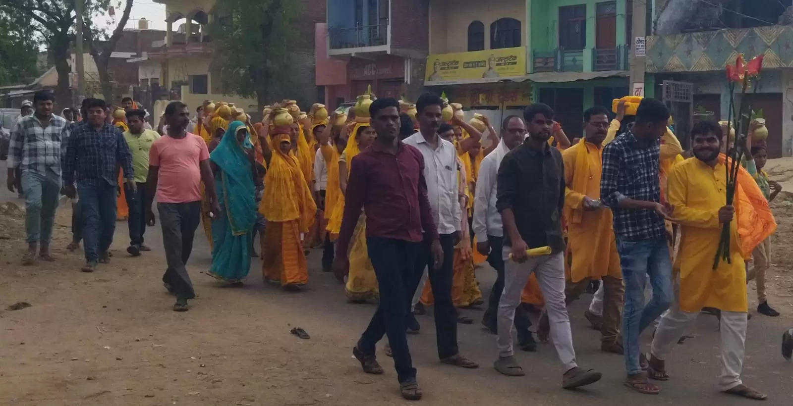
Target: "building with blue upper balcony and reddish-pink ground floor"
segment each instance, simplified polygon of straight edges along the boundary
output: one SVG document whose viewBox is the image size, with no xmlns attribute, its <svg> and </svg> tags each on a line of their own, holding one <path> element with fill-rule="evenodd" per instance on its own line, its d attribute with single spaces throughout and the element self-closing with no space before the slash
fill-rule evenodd
<svg viewBox="0 0 793 406">
<path fill-rule="evenodd" d="M 416 98 L 423 90 L 426 0 L 327 0 L 315 25 L 316 85 L 335 109 L 364 94 Z"/>
</svg>

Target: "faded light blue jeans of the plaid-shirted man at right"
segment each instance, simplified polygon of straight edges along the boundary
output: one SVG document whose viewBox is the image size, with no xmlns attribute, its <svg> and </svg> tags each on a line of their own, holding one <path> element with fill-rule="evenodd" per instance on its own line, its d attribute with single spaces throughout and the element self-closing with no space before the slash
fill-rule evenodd
<svg viewBox="0 0 793 406">
<path fill-rule="evenodd" d="M 672 301 L 672 260 L 666 239 L 625 241 L 617 237 L 619 265 L 623 268 L 625 308 L 623 348 L 628 375 L 642 372 L 639 366 L 639 336 Z M 644 289 L 649 275 L 653 298 L 645 304 Z"/>
</svg>

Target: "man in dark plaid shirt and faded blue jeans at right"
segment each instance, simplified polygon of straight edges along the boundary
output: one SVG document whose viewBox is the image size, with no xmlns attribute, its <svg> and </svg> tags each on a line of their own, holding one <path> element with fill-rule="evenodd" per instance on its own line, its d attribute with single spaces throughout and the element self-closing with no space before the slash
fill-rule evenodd
<svg viewBox="0 0 793 406">
<path fill-rule="evenodd" d="M 658 393 L 642 373 L 639 335 L 669 307 L 672 300 L 672 262 L 664 229 L 669 211 L 661 204 L 658 178 L 661 136 L 669 110 L 664 103 L 645 98 L 639 104 L 633 128 L 603 148 L 600 198 L 614 214 L 619 262 L 625 283 L 623 348 L 626 385 L 640 393 Z M 644 304 L 649 275 L 653 298 Z M 640 359 L 641 358 L 641 359 Z"/>
</svg>

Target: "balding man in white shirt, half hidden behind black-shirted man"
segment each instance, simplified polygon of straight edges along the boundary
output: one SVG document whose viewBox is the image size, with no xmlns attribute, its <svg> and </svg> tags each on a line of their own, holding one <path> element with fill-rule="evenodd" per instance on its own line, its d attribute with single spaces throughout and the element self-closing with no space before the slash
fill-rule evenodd
<svg viewBox="0 0 793 406">
<path fill-rule="evenodd" d="M 473 197 L 473 233 L 477 237 L 477 251 L 487 255 L 488 263 L 496 270 L 496 282 L 490 290 L 488 308 L 482 317 L 482 324 L 491 334 L 497 334 L 496 314 L 501 292 L 504 291 L 504 259 L 501 248 L 504 243 L 504 229 L 501 213 L 496 209 L 496 174 L 504 155 L 523 142 L 526 123 L 519 116 L 504 118 L 501 125 L 501 140 L 492 153 L 482 159 L 477 178 L 477 192 Z M 519 347 L 523 350 L 536 350 L 537 343 L 529 331 L 528 315 L 522 307 L 515 309 L 515 327 L 518 330 Z"/>
</svg>

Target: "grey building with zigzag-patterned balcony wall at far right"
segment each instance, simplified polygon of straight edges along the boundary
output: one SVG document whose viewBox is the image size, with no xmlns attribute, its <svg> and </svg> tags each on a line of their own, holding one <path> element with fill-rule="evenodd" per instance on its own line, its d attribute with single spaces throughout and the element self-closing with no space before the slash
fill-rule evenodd
<svg viewBox="0 0 793 406">
<path fill-rule="evenodd" d="M 653 25 L 661 35 L 647 37 L 646 90 L 666 98 L 669 86 L 683 84 L 690 88 L 686 106 L 691 121 L 702 117 L 726 120 L 730 106 L 726 65 L 734 64 L 738 55 L 751 59 L 762 54 L 763 71 L 749 90 L 747 102 L 756 113 L 761 110 L 766 120 L 768 157 L 793 155 L 791 6 L 790 0 L 764 2 L 762 7 L 737 0 L 721 5 L 657 1 Z M 699 17 L 691 19 L 691 15 Z M 681 137 L 681 141 L 688 140 Z"/>
</svg>

